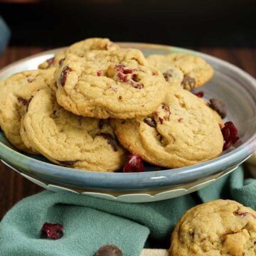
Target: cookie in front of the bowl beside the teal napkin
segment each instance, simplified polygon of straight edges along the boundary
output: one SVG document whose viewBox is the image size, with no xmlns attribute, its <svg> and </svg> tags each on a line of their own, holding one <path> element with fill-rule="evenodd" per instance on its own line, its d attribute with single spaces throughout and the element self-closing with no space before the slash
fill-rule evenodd
<svg viewBox="0 0 256 256">
<path fill-rule="evenodd" d="M 256 255 L 256 212 L 230 200 L 188 210 L 171 235 L 171 256 Z"/>
</svg>

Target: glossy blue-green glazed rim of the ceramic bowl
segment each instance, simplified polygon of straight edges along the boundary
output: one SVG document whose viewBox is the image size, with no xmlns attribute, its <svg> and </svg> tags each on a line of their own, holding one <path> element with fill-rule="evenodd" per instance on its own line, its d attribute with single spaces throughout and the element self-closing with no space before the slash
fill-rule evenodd
<svg viewBox="0 0 256 256">
<path fill-rule="evenodd" d="M 188 50 L 183 48 L 177 48 L 173 46 L 163 46 L 163 45 L 152 45 L 146 43 L 120 43 L 125 46 L 131 44 L 137 45 L 139 47 L 148 46 L 152 48 L 165 48 L 165 50 L 171 50 L 171 52 L 183 52 L 192 53 L 199 55 L 207 60 L 217 61 L 220 64 L 225 65 L 225 68 L 233 70 L 233 72 L 240 73 L 240 76 L 250 82 L 250 84 L 255 87 L 256 90 L 256 80 L 252 78 L 251 75 L 245 73 L 245 71 L 232 65 L 225 60 L 220 60 L 213 56 L 207 55 L 205 53 L 199 53 L 194 50 Z M 53 55 L 57 50 L 48 50 L 43 53 L 38 53 L 36 55 L 31 55 L 28 58 L 23 58 L 15 63 L 7 65 L 5 68 L 1 69 L 1 73 L 5 73 L 6 70 L 13 68 L 14 65 L 23 63 L 31 58 L 36 58 L 41 55 Z M 220 173 L 220 171 L 225 171 L 225 169 L 231 166 L 236 166 L 245 160 L 253 151 L 256 150 L 256 133 L 246 142 L 243 142 L 241 146 L 237 149 L 230 151 L 218 158 L 206 161 L 201 164 L 196 164 L 193 166 L 187 166 L 178 169 L 166 169 L 161 171 L 146 171 L 143 173 L 107 173 L 107 172 L 96 172 L 96 171 L 82 171 L 79 169 L 71 169 L 68 167 L 57 166 L 55 164 L 48 164 L 44 161 L 33 159 L 25 154 L 11 149 L 9 146 L 0 142 L 0 156 L 1 159 L 6 161 L 14 168 L 21 168 L 21 171 L 27 172 L 26 170 L 38 176 L 38 178 L 43 178 L 46 181 L 51 181 L 55 183 L 61 183 L 68 186 L 74 186 L 78 188 L 97 188 L 102 190 L 146 190 L 151 188 L 168 188 L 171 186 L 179 186 L 186 183 L 191 183 L 197 181 L 201 178 L 206 178 L 208 176 L 213 176 Z M 18 161 L 18 165 L 15 163 Z M 18 167 L 17 167 L 18 166 Z M 181 177 L 182 176 L 182 177 Z M 125 178 L 124 178 L 125 177 Z"/>
</svg>

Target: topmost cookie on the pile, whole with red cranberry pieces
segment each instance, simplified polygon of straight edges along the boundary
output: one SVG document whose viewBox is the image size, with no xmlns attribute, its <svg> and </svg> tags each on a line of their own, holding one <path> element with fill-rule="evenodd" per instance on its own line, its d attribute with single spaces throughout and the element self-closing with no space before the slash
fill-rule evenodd
<svg viewBox="0 0 256 256">
<path fill-rule="evenodd" d="M 166 81 L 135 49 L 69 54 L 55 72 L 58 103 L 85 117 L 127 119 L 150 114 L 164 100 Z"/>
</svg>

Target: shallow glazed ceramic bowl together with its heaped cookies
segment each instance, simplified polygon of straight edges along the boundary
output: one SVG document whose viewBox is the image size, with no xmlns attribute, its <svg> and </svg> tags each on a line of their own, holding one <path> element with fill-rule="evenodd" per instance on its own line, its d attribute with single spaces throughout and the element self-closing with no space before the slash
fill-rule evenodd
<svg viewBox="0 0 256 256">
<path fill-rule="evenodd" d="M 87 38 L 3 68 L 0 103 L 1 161 L 51 191 L 159 201 L 255 151 L 255 79 L 183 48 Z"/>
</svg>

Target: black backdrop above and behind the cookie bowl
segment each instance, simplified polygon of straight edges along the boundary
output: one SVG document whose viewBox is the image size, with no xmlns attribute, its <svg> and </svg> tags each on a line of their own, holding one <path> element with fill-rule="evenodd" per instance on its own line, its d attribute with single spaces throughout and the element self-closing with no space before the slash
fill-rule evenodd
<svg viewBox="0 0 256 256">
<path fill-rule="evenodd" d="M 188 48 L 256 47 L 255 0 L 13 1 L 0 0 L 12 46 L 68 46 L 98 36 Z"/>
</svg>

